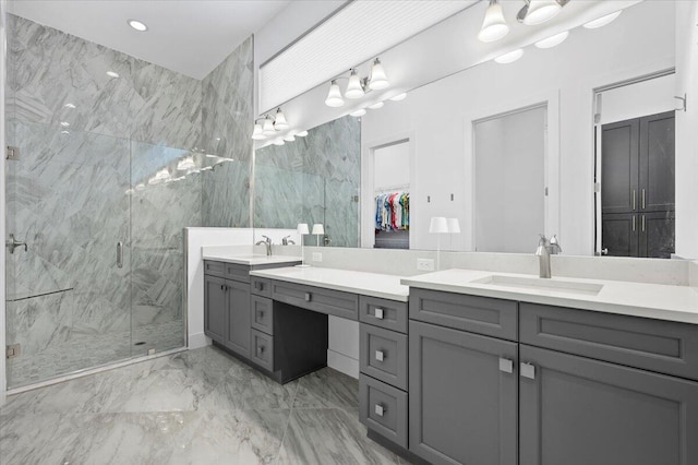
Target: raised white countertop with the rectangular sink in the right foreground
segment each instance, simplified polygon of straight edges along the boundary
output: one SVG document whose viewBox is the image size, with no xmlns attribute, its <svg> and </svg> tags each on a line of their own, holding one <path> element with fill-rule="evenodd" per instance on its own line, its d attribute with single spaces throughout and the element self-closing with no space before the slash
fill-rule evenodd
<svg viewBox="0 0 698 465">
<path fill-rule="evenodd" d="M 489 276 L 504 276 L 498 284 L 474 283 Z M 510 279 L 510 283 L 507 283 Z M 404 285 L 473 296 L 495 297 L 532 303 L 571 307 L 607 313 L 628 314 L 666 321 L 698 324 L 698 288 L 622 281 L 553 277 L 550 287 L 535 288 L 516 281 L 543 281 L 534 275 L 447 270 L 404 277 Z M 551 283 L 556 282 L 556 283 Z M 546 283 L 542 283 L 546 284 Z M 553 286 L 562 288 L 555 289 Z M 598 294 L 595 287 L 602 286 Z"/>
</svg>

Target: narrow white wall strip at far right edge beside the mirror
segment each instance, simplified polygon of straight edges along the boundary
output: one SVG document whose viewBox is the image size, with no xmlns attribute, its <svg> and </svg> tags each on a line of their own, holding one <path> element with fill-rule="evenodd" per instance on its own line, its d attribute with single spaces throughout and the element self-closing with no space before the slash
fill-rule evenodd
<svg viewBox="0 0 698 465">
<path fill-rule="evenodd" d="M 676 254 L 698 259 L 698 3 L 676 5 L 676 94 L 688 96 L 676 111 Z M 678 105 L 678 100 L 675 102 Z"/>
</svg>

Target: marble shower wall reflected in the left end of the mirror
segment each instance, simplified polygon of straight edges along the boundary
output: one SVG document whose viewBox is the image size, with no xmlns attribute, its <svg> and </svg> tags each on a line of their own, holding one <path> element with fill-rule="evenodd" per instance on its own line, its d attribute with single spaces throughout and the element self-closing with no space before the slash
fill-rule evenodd
<svg viewBox="0 0 698 465">
<path fill-rule="evenodd" d="M 359 247 L 361 123 L 345 117 L 255 153 L 254 225 L 323 223 L 333 247 Z M 290 207 L 286 207 L 289 205 Z M 306 237 L 308 245 L 315 238 Z"/>
</svg>

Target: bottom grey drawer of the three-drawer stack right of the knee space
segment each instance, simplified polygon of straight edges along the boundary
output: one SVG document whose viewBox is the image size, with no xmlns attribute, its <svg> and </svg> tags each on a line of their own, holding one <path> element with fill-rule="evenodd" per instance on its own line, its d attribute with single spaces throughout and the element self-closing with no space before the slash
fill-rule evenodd
<svg viewBox="0 0 698 465">
<path fill-rule="evenodd" d="M 407 393 L 371 377 L 359 377 L 359 420 L 407 449 Z"/>
</svg>

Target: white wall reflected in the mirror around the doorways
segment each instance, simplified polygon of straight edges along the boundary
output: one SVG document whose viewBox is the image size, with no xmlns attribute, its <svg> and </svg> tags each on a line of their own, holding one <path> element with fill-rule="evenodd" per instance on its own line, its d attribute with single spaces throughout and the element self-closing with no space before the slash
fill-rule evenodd
<svg viewBox="0 0 698 465">
<path fill-rule="evenodd" d="M 609 26 L 571 31 L 556 48 L 527 47 L 515 63 L 483 63 L 364 116 L 363 147 L 390 135 L 416 134 L 418 175 L 411 187 L 414 238 L 410 246 L 434 249 L 429 218 L 457 216 L 464 234 L 454 238 L 454 246 L 470 250 L 472 169 L 468 160 L 472 146 L 466 142 L 471 136 L 466 136 L 464 128 L 471 130 L 472 115 L 485 116 L 489 108 L 494 115 L 507 105 L 519 108 L 535 94 L 541 102 L 547 96 L 559 99 L 557 108 L 549 104 L 550 130 L 559 128 L 557 146 L 549 146 L 552 159 L 559 159 L 558 176 L 556 169 L 552 172 L 559 181 L 559 207 L 549 215 L 558 212 L 561 226 L 553 233 L 558 233 L 566 254 L 593 253 L 593 90 L 673 67 L 674 16 L 673 2 L 642 2 Z M 557 120 L 552 118 L 556 111 Z M 453 202 L 450 193 L 455 194 Z"/>
</svg>

